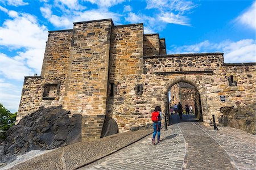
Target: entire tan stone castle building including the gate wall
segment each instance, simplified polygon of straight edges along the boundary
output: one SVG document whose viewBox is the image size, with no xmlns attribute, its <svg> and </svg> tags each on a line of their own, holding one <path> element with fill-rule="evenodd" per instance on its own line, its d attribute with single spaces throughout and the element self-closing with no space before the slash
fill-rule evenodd
<svg viewBox="0 0 256 170">
<path fill-rule="evenodd" d="M 25 77 L 17 121 L 62 105 L 82 115 L 82 139 L 100 138 L 110 119 L 119 132 L 151 124 L 156 105 L 168 112 L 170 88 L 187 82 L 199 92 L 205 124 L 212 114 L 218 124 L 222 107 L 243 108 L 256 99 L 255 63 L 224 63 L 223 55 L 166 54 L 165 39 L 144 34 L 143 24 L 77 22 L 73 29 L 49 31 L 42 73 Z"/>
</svg>

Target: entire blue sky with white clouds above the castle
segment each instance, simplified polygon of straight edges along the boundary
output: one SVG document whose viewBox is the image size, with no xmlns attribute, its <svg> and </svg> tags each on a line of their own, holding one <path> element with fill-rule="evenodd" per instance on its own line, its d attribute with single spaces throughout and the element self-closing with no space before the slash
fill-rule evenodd
<svg viewBox="0 0 256 170">
<path fill-rule="evenodd" d="M 0 0 L 0 103 L 18 111 L 24 76 L 40 75 L 48 31 L 112 18 L 144 23 L 166 38 L 168 54 L 224 52 L 226 63 L 255 62 L 256 1 Z"/>
</svg>

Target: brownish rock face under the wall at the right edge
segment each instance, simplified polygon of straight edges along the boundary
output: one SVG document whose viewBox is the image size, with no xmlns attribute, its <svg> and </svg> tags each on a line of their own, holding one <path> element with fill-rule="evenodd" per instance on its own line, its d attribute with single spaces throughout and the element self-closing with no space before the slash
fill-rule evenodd
<svg viewBox="0 0 256 170">
<path fill-rule="evenodd" d="M 221 126 L 230 126 L 255 134 L 255 105 L 247 105 L 243 108 L 222 107 L 220 111 L 224 114 L 218 119 Z"/>
</svg>

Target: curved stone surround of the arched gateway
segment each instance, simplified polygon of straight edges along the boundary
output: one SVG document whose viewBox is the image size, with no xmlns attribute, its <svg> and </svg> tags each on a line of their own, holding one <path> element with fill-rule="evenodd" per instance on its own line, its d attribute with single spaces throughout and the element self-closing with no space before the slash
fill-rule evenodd
<svg viewBox="0 0 256 170">
<path fill-rule="evenodd" d="M 164 101 L 164 105 L 162 106 L 163 108 L 163 112 L 164 113 L 167 113 L 168 112 L 168 109 L 169 109 L 169 104 L 168 104 L 168 91 L 171 89 L 172 86 L 174 86 L 175 84 L 177 83 L 180 83 L 180 82 L 184 82 L 184 83 L 189 83 L 191 84 L 192 86 L 195 87 L 196 91 L 198 92 L 199 94 L 199 102 L 200 102 L 200 114 L 198 116 L 198 118 L 201 120 L 206 120 L 204 119 L 203 117 L 210 117 L 209 115 L 209 111 L 208 111 L 208 107 L 207 107 L 207 94 L 205 93 L 205 88 L 203 86 L 200 85 L 199 82 L 197 82 L 196 80 L 192 80 L 190 78 L 188 78 L 187 76 L 180 76 L 178 78 L 175 78 L 175 79 L 171 79 L 170 81 L 168 81 L 164 88 L 163 88 L 163 93 L 162 93 L 162 101 Z M 168 120 L 169 121 L 169 120 Z"/>
</svg>

